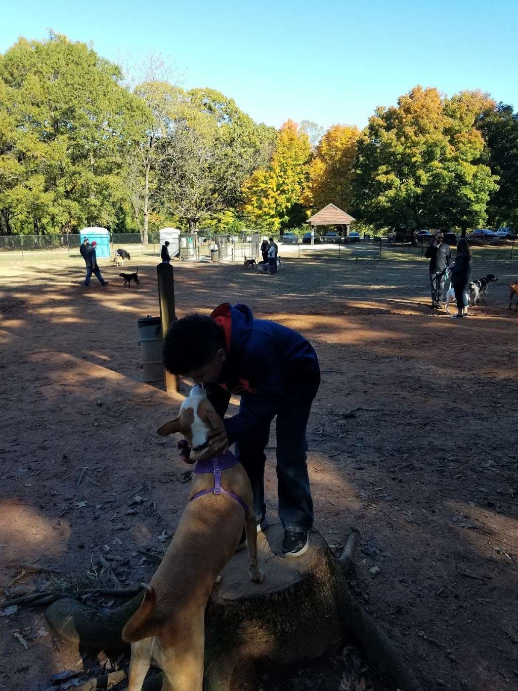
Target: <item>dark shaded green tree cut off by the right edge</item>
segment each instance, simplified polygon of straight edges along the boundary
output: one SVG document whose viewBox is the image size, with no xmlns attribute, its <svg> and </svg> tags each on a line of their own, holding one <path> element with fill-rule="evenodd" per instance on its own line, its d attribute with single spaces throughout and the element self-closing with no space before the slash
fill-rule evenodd
<svg viewBox="0 0 518 691">
<path fill-rule="evenodd" d="M 500 178 L 488 205 L 489 223 L 518 229 L 518 113 L 499 103 L 478 126 L 487 144 L 487 164 Z"/>
</svg>

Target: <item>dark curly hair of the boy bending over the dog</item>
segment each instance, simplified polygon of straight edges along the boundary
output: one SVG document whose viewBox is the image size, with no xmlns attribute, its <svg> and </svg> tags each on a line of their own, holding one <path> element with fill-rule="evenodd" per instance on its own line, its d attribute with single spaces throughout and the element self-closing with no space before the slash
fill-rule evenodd
<svg viewBox="0 0 518 691">
<path fill-rule="evenodd" d="M 222 327 L 210 316 L 187 314 L 169 327 L 164 339 L 164 367 L 173 375 L 184 375 L 206 365 L 225 347 Z"/>
</svg>

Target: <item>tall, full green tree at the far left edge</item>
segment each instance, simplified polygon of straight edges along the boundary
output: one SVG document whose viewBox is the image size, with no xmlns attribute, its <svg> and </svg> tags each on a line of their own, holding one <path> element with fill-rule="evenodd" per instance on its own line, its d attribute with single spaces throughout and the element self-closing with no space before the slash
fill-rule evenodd
<svg viewBox="0 0 518 691">
<path fill-rule="evenodd" d="M 4 226 L 14 216 L 17 230 L 32 232 L 115 222 L 126 153 L 145 115 L 121 77 L 92 48 L 55 34 L 20 39 L 1 56 Z"/>
</svg>

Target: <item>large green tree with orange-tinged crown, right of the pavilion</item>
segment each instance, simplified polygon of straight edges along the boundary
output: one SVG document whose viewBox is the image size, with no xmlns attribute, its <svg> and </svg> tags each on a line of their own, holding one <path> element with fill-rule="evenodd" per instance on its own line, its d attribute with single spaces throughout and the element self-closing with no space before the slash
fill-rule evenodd
<svg viewBox="0 0 518 691">
<path fill-rule="evenodd" d="M 486 220 L 497 178 L 483 164 L 476 124 L 492 102 L 480 92 L 451 99 L 416 86 L 378 108 L 358 142 L 356 205 L 375 227 L 455 227 Z"/>
</svg>

